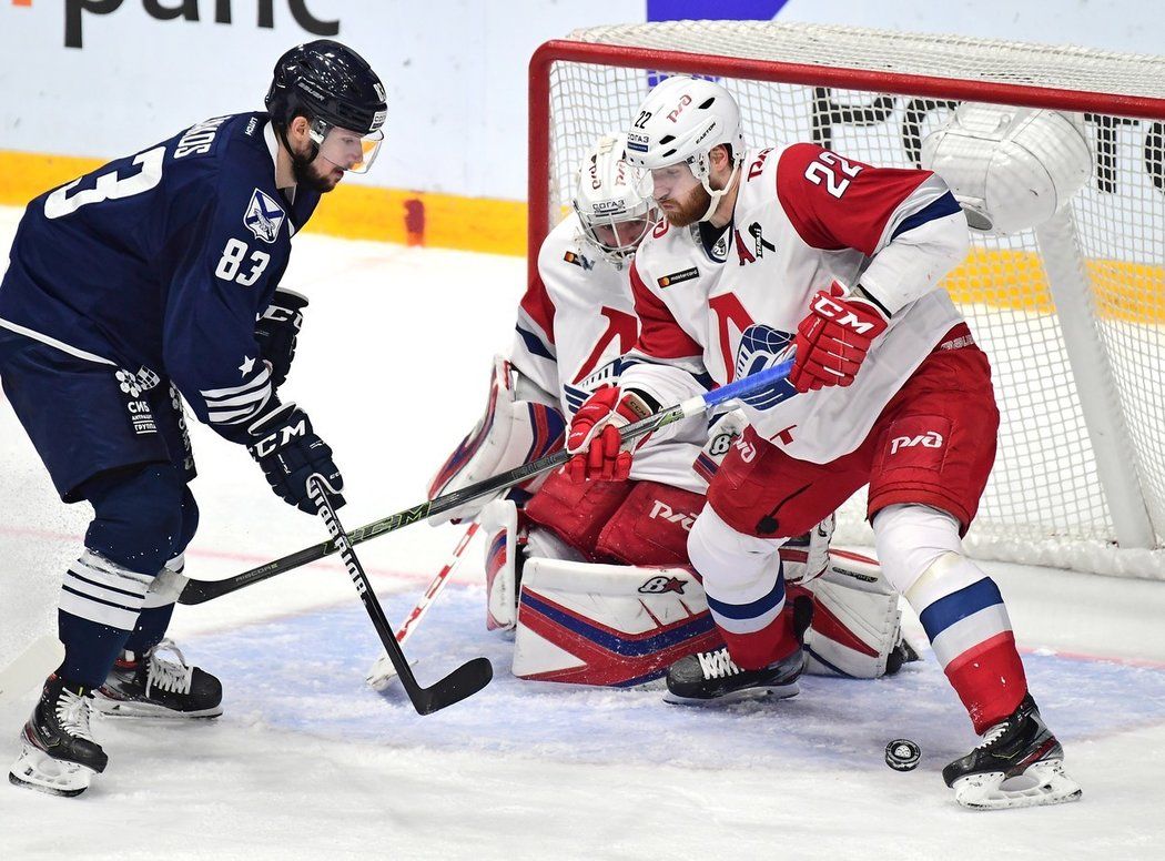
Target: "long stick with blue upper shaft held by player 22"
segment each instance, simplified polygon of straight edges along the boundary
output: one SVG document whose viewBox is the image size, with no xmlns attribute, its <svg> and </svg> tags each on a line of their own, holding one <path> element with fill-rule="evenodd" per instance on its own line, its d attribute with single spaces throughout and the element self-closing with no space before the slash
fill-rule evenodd
<svg viewBox="0 0 1165 861">
<path fill-rule="evenodd" d="M 648 433 L 672 424 L 673 422 L 678 422 L 690 416 L 702 415 L 707 409 L 719 407 L 726 401 L 732 401 L 744 395 L 751 395 L 762 389 L 776 386 L 789 376 L 789 370 L 791 368 L 792 359 L 789 359 L 781 365 L 765 368 L 764 370 L 760 370 L 755 374 L 749 374 L 748 376 L 743 376 L 735 382 L 728 383 L 727 386 L 721 386 L 719 389 L 714 389 L 713 391 L 707 391 L 702 395 L 691 397 L 683 403 L 661 410 L 659 412 L 648 416 L 647 418 L 641 418 L 634 424 L 628 424 L 621 428 L 619 431 L 620 439 L 627 442 L 629 439 L 647 436 Z M 783 396 L 788 395 L 777 395 L 776 400 L 770 398 L 769 405 L 776 403 L 777 400 L 781 400 Z M 422 502 L 419 506 L 415 506 L 414 508 L 397 511 L 394 515 L 368 523 L 359 529 L 353 529 L 348 532 L 348 541 L 352 544 L 359 544 L 362 541 L 375 538 L 377 535 L 383 535 L 384 532 L 395 531 L 402 527 L 409 525 L 410 523 L 425 520 L 435 514 L 458 508 L 459 506 L 468 502 L 469 500 L 478 499 L 479 496 L 486 496 L 490 493 L 496 493 L 497 491 L 504 491 L 506 488 L 518 485 L 529 478 L 541 475 L 544 472 L 549 472 L 550 470 L 562 466 L 570 459 L 570 457 L 571 456 L 567 454 L 564 449 L 560 449 L 553 454 L 548 454 L 538 460 L 523 464 L 522 466 L 517 466 L 509 472 L 500 473 L 493 478 L 479 481 L 475 485 L 463 487 L 460 491 L 446 493 L 445 495 L 438 496 L 429 502 Z M 241 590 L 245 586 L 249 586 L 253 583 L 261 583 L 262 580 L 275 577 L 276 574 L 282 574 L 285 571 L 297 569 L 301 565 L 306 565 L 308 563 L 316 562 L 317 559 L 323 559 L 325 556 L 334 553 L 339 548 L 334 541 L 325 541 L 322 544 L 315 544 L 310 548 L 297 550 L 294 553 L 289 553 L 282 558 L 264 563 L 259 567 L 243 571 L 241 574 L 227 577 L 221 580 L 196 580 L 193 578 L 189 578 L 182 590 L 182 593 L 178 595 L 178 604 L 202 604 L 203 601 L 210 601 L 214 598 L 231 594 L 232 592 Z"/>
</svg>

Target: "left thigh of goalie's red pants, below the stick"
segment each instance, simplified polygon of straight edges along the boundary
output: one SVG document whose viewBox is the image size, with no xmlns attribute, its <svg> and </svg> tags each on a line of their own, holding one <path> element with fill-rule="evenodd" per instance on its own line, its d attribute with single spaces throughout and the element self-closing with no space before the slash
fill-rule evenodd
<svg viewBox="0 0 1165 861">
<path fill-rule="evenodd" d="M 564 471 L 552 473 L 529 502 L 525 516 L 549 529 L 592 562 L 603 527 L 635 488 L 630 481 L 574 484 Z"/>
</svg>

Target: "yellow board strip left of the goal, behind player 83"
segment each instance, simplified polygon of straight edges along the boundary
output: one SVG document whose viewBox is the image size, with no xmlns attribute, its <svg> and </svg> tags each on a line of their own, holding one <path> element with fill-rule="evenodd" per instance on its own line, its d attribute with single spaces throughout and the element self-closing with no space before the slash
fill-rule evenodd
<svg viewBox="0 0 1165 861">
<path fill-rule="evenodd" d="M 99 158 L 0 150 L 0 205 L 23 206 L 43 191 L 104 164 Z M 340 185 L 308 224 L 347 239 L 525 254 L 525 203 L 432 192 Z"/>
</svg>

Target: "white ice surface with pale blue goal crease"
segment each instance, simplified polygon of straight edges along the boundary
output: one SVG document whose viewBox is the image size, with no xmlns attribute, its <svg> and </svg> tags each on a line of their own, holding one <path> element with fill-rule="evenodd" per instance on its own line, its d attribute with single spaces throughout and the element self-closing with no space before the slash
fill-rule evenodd
<svg viewBox="0 0 1165 861">
<path fill-rule="evenodd" d="M 0 210 L 0 248 L 17 218 Z M 284 283 L 311 308 L 283 394 L 336 450 L 350 529 L 421 501 L 475 421 L 524 270 L 513 257 L 296 240 Z M 193 438 L 202 525 L 188 573 L 226 577 L 326 538 L 245 451 L 200 426 Z M 57 500 L 0 402 L 0 664 L 52 629 L 87 520 Z M 358 546 L 390 619 L 458 536 L 417 524 Z M 407 647 L 423 684 L 488 656 L 495 680 L 481 693 L 422 718 L 398 689 L 367 687 L 380 645 L 333 560 L 181 607 L 171 635 L 223 679 L 224 717 L 94 718 L 111 762 L 84 796 L 0 785 L 0 859 L 1163 858 L 1163 583 L 987 565 L 1085 795 L 975 813 L 939 771 L 976 739 L 909 611 L 926 659 L 897 677 L 806 678 L 792 700 L 684 710 L 657 689 L 515 679 L 511 643 L 485 630 L 481 555 L 471 548 Z M 0 708 L 5 768 L 33 698 Z M 923 748 L 912 772 L 883 762 L 899 736 Z"/>
</svg>

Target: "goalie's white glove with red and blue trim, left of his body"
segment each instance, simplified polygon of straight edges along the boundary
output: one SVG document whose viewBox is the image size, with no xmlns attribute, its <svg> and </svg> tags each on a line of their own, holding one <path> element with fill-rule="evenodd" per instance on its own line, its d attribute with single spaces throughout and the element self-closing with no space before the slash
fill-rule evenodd
<svg viewBox="0 0 1165 861">
<path fill-rule="evenodd" d="M 494 357 L 486 414 L 437 471 L 429 485 L 429 499 L 459 491 L 562 447 L 566 428 L 562 412 L 546 403 L 517 400 L 515 386 L 520 373 L 502 357 Z M 518 487 L 532 492 L 544 479 L 537 477 Z M 471 500 L 430 517 L 429 522 L 438 525 L 475 517 L 486 504 L 506 493 L 508 491 L 499 491 Z"/>
</svg>

